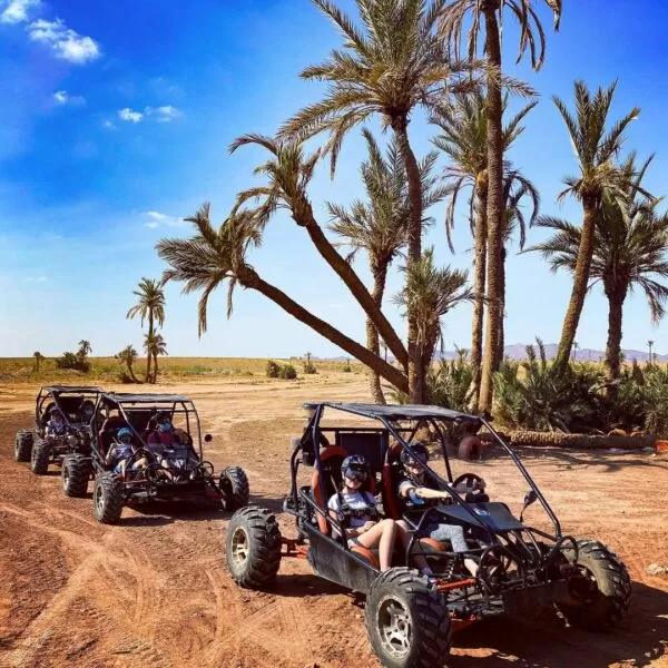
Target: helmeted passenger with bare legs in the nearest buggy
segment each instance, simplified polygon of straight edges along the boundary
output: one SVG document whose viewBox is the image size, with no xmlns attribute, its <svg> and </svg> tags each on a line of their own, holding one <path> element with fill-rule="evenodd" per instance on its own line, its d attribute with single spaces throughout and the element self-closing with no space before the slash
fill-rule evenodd
<svg viewBox="0 0 668 668">
<path fill-rule="evenodd" d="M 363 490 L 371 468 L 361 454 L 352 454 L 343 460 L 341 473 L 341 490 L 327 503 L 330 517 L 341 524 L 348 547 L 377 548 L 381 571 L 386 571 L 394 551 L 396 524 L 394 520 L 379 517 L 373 494 Z M 334 534 L 338 532 L 335 530 Z"/>
</svg>

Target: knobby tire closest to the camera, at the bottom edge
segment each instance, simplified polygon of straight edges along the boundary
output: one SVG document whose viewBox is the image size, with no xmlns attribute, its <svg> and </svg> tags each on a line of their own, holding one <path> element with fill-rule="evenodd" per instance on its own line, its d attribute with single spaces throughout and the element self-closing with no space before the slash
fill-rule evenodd
<svg viewBox="0 0 668 668">
<path fill-rule="evenodd" d="M 371 646 L 386 668 L 441 668 L 452 628 L 444 599 L 424 576 L 392 568 L 372 583 L 365 606 Z"/>
</svg>

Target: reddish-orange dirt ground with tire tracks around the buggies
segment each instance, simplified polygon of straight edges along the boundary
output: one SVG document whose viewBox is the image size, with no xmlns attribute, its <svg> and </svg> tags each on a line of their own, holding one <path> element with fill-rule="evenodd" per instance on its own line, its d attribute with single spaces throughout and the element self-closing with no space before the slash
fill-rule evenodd
<svg viewBox="0 0 668 668">
<path fill-rule="evenodd" d="M 206 455 L 238 463 L 253 501 L 281 508 L 288 438 L 306 399 L 363 399 L 361 381 L 165 387 L 187 392 L 215 436 Z M 377 666 L 353 595 L 284 560 L 271 593 L 237 589 L 223 556 L 227 515 L 166 505 L 124 510 L 102 527 L 58 473 L 13 462 L 33 389 L 0 389 L 0 667 L 323 668 Z M 452 668 L 668 666 L 668 458 L 530 451 L 525 463 L 564 530 L 616 550 L 633 579 L 631 613 L 613 636 L 557 620 L 493 620 L 455 637 Z M 509 464 L 488 460 L 492 494 L 521 500 Z M 289 530 L 287 521 L 284 529 Z"/>
</svg>

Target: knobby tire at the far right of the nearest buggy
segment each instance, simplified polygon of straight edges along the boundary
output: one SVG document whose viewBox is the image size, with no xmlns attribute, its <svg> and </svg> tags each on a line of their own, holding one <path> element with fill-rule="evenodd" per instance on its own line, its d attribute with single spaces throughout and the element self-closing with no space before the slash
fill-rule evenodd
<svg viewBox="0 0 668 668">
<path fill-rule="evenodd" d="M 570 626 L 589 631 L 611 631 L 623 619 L 631 601 L 631 579 L 622 561 L 603 543 L 578 541 L 578 561 L 582 572 L 596 582 L 593 593 L 580 605 L 558 606 Z M 569 551 L 564 550 L 569 558 Z M 572 551 L 570 552 L 572 560 Z"/>
</svg>

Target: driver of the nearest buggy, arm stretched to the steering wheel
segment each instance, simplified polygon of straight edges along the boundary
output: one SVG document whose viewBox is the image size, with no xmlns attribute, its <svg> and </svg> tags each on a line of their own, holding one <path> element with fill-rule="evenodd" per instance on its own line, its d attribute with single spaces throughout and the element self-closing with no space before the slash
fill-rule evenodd
<svg viewBox="0 0 668 668">
<path fill-rule="evenodd" d="M 425 469 L 420 465 L 420 461 L 429 461 L 429 451 L 422 443 L 410 443 L 410 449 L 403 449 L 401 452 L 401 463 L 404 466 L 403 478 L 399 483 L 399 499 L 403 511 L 418 510 L 425 505 L 426 501 L 450 499 L 449 492 L 439 490 L 435 483 L 425 477 Z M 460 493 L 473 493 L 475 490 L 484 491 L 484 480 L 475 481 L 472 487 L 464 483 L 458 484 L 454 489 Z M 402 513 L 403 514 L 403 513 Z M 405 522 L 405 520 L 401 520 Z M 428 517 L 420 528 L 416 538 L 431 538 L 439 542 L 450 541 L 452 551 L 455 553 L 465 553 L 469 551 L 464 538 L 464 529 L 459 524 L 446 524 L 438 521 L 435 513 Z M 473 559 L 465 558 L 464 566 L 472 576 L 478 572 L 478 564 Z"/>
</svg>

